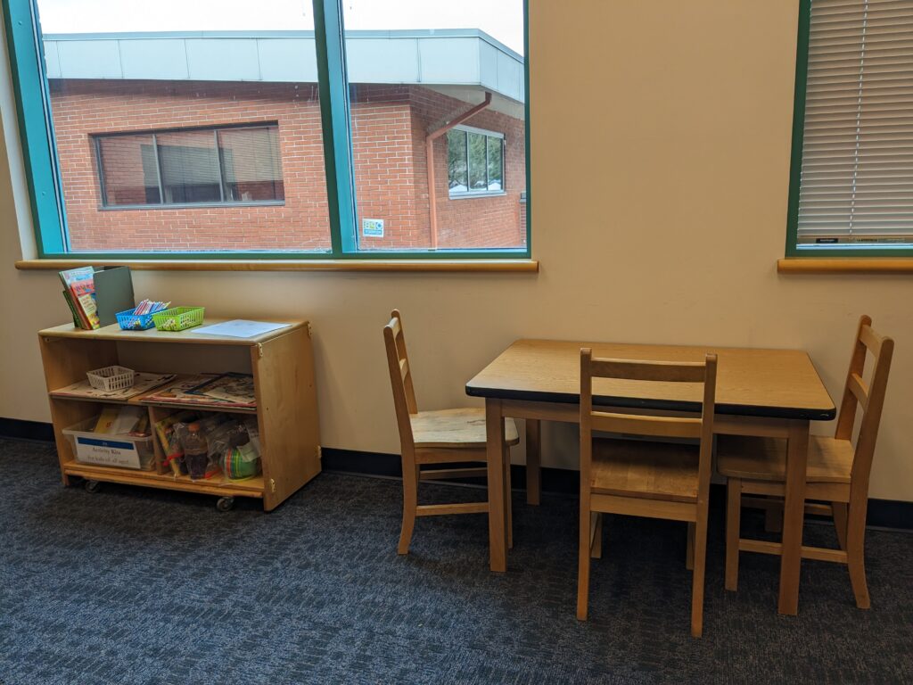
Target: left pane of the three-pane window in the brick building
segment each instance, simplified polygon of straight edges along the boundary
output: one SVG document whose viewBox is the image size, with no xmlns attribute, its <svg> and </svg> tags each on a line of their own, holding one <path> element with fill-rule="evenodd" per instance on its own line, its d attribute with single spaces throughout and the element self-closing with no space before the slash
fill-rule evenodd
<svg viewBox="0 0 913 685">
<path fill-rule="evenodd" d="M 96 139 L 106 206 L 157 205 L 158 167 L 152 135 L 118 135 Z"/>
</svg>

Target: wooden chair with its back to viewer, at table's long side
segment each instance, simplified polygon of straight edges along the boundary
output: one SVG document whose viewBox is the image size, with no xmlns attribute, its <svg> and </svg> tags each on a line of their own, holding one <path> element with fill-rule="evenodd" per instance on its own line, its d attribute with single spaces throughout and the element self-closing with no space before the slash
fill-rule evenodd
<svg viewBox="0 0 913 685">
<path fill-rule="evenodd" d="M 701 416 L 612 414 L 593 409 L 593 378 L 703 384 Z M 580 566 L 577 618 L 586 620 L 590 556 L 602 555 L 603 513 L 687 522 L 686 566 L 693 568 L 691 635 L 704 617 L 704 564 L 713 450 L 717 356 L 703 363 L 593 359 L 581 350 L 580 369 Z M 593 430 L 627 436 L 697 440 L 694 444 L 593 439 Z"/>
</svg>

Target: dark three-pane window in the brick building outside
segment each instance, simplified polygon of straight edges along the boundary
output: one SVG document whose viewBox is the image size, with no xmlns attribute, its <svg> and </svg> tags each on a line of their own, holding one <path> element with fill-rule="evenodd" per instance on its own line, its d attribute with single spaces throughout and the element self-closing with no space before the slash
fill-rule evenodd
<svg viewBox="0 0 913 685">
<path fill-rule="evenodd" d="M 278 126 L 94 137 L 101 204 L 281 203 Z"/>
</svg>

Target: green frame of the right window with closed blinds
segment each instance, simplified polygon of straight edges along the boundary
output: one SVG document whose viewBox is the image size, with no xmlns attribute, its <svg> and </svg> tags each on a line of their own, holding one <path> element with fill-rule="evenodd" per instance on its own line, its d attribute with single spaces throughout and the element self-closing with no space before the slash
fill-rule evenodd
<svg viewBox="0 0 913 685">
<path fill-rule="evenodd" d="M 796 72 L 794 106 L 792 110 L 792 153 L 790 158 L 790 185 L 787 201 L 786 250 L 787 258 L 869 258 L 913 257 L 913 244 L 897 246 L 879 244 L 800 244 L 799 204 L 803 167 L 805 106 L 809 78 L 809 47 L 812 30 L 812 2 L 799 2 L 799 31 L 796 40 Z M 913 240 L 913 238 L 911 238 Z"/>
</svg>

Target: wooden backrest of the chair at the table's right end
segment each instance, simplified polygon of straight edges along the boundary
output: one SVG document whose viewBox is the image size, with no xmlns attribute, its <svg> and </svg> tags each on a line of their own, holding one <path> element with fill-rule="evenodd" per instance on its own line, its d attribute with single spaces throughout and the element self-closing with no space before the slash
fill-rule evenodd
<svg viewBox="0 0 913 685">
<path fill-rule="evenodd" d="M 867 353 L 872 353 L 875 359 L 875 366 L 868 385 L 863 380 Z M 865 315 L 860 317 L 859 328 L 853 342 L 853 354 L 850 357 L 850 368 L 846 372 L 844 398 L 840 403 L 840 414 L 837 416 L 834 437 L 838 440 L 853 439 L 856 408 L 862 406 L 862 425 L 859 427 L 859 436 L 856 438 L 850 488 L 865 493 L 866 496 L 872 458 L 875 456 L 878 425 L 881 423 L 881 410 L 885 406 L 887 374 L 891 369 L 893 355 L 894 341 L 872 330 L 870 317 Z"/>
</svg>

